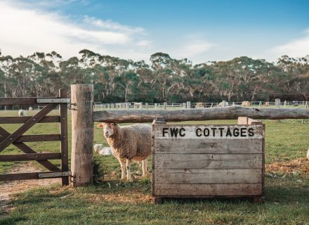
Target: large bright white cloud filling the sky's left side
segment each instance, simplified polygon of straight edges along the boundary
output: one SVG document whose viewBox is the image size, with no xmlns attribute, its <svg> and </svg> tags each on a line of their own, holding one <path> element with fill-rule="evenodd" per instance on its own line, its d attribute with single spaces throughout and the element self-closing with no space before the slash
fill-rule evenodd
<svg viewBox="0 0 309 225">
<path fill-rule="evenodd" d="M 136 44 L 145 38 L 143 28 L 87 16 L 81 23 L 75 23 L 70 16 L 32 8 L 19 1 L 0 1 L 0 49 L 4 55 L 28 56 L 35 51 L 56 51 L 68 58 L 77 56 L 81 49 L 89 49 L 122 57 L 114 53 L 129 51 L 136 46 L 139 46 L 136 51 L 143 52 Z M 144 59 L 140 56 L 141 53 L 130 58 Z"/>
</svg>

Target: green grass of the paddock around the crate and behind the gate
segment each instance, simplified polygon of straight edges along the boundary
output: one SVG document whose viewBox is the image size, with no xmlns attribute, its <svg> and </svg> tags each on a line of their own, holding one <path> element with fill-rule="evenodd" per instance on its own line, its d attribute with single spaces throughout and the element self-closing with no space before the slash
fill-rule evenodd
<svg viewBox="0 0 309 225">
<path fill-rule="evenodd" d="M 2 111 L 0 116 L 10 113 L 17 115 L 15 111 Z M 252 203 L 250 199 L 216 198 L 171 199 L 163 205 L 154 205 L 150 176 L 133 182 L 120 181 L 119 164 L 110 155 L 99 158 L 108 181 L 83 188 L 57 185 L 32 188 L 15 195 L 8 203 L 12 210 L 0 208 L 0 224 L 309 224 L 308 160 L 297 161 L 304 165 L 301 170 L 297 163 L 294 163 L 296 166 L 293 169 L 289 169 L 291 162 L 305 157 L 309 147 L 309 122 L 264 122 L 268 170 L 262 204 Z M 192 123 L 236 124 L 236 121 L 183 122 Z M 13 131 L 18 125 L 3 127 Z M 58 129 L 58 124 L 37 124 L 27 134 L 56 134 Z M 107 146 L 99 129 L 95 129 L 94 140 Z M 32 143 L 31 146 L 38 151 L 59 151 L 59 146 L 54 142 Z M 5 153 L 18 153 L 18 150 L 10 146 Z M 150 160 L 148 162 L 150 168 Z M 1 163 L 0 172 L 7 172 L 15 166 Z M 133 164 L 132 171 L 133 176 L 139 177 L 141 168 Z"/>
</svg>

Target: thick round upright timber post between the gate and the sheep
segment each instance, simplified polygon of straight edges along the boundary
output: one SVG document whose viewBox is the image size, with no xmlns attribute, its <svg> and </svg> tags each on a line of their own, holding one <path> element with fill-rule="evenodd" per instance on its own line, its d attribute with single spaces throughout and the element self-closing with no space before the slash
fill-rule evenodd
<svg viewBox="0 0 309 225">
<path fill-rule="evenodd" d="M 93 84 L 71 85 L 73 186 L 92 183 L 93 176 Z"/>
</svg>

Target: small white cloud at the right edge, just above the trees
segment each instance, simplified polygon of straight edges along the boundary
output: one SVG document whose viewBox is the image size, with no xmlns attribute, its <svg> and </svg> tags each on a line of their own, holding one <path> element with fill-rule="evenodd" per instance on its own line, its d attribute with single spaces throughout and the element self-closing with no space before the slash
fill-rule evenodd
<svg viewBox="0 0 309 225">
<path fill-rule="evenodd" d="M 280 46 L 275 46 L 270 52 L 277 57 L 283 55 L 291 57 L 303 57 L 309 55 L 309 30 L 305 31 L 305 37 L 291 40 Z"/>
</svg>

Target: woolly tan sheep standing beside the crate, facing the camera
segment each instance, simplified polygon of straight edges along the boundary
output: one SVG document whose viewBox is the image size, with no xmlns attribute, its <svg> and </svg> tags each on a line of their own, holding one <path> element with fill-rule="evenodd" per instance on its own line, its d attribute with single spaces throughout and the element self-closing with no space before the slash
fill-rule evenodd
<svg viewBox="0 0 309 225">
<path fill-rule="evenodd" d="M 112 154 L 119 160 L 121 179 L 125 179 L 124 160 L 126 160 L 126 179 L 131 181 L 131 161 L 142 161 L 143 176 L 147 173 L 146 158 L 151 154 L 151 125 L 133 124 L 119 127 L 114 123 L 98 124 L 103 128 L 107 143 L 112 148 Z"/>
</svg>

